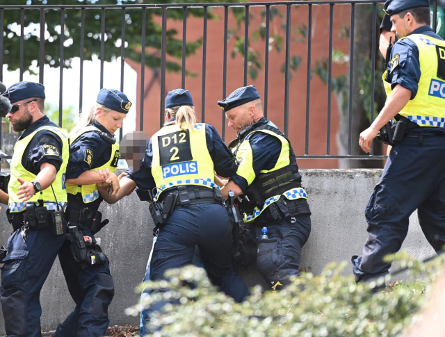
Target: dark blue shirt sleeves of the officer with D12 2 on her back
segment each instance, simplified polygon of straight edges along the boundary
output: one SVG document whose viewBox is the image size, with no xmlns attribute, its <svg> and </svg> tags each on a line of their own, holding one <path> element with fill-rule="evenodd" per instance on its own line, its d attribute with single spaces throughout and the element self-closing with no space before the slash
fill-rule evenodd
<svg viewBox="0 0 445 337">
<path fill-rule="evenodd" d="M 172 120 L 174 119 L 169 120 L 169 122 Z M 236 173 L 234 155 L 232 151 L 227 148 L 227 145 L 225 145 L 215 127 L 210 124 L 206 124 L 206 142 L 216 173 L 225 177 L 233 176 Z M 150 200 L 147 191 L 151 190 L 155 192 L 153 189 L 156 188 L 156 183 L 152 175 L 152 160 L 152 139 L 150 138 L 140 169 L 137 172 L 133 172 L 130 169 L 125 171 L 129 174 L 127 178 L 136 183 L 136 193 L 139 199 L 143 201 Z M 156 194 L 156 192 L 154 194 Z"/>
</svg>

